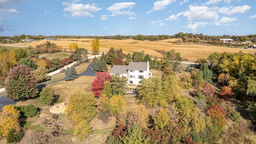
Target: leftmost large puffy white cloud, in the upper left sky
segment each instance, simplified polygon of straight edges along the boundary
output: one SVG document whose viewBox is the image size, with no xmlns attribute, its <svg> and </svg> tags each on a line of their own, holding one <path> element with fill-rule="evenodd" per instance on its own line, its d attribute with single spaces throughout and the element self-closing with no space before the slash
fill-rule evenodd
<svg viewBox="0 0 256 144">
<path fill-rule="evenodd" d="M 75 3 L 62 3 L 64 8 L 64 12 L 70 12 L 72 17 L 80 17 L 84 16 L 87 18 L 92 18 L 94 15 L 92 15 L 90 12 L 97 12 L 101 10 L 101 8 L 97 7 L 97 4 L 75 4 Z"/>
</svg>

